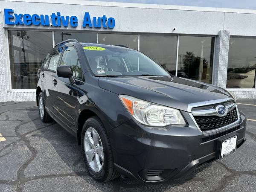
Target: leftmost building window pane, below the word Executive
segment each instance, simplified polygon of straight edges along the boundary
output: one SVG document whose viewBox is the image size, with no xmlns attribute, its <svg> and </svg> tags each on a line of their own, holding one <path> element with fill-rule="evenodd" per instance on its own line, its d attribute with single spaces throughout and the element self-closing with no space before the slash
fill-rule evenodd
<svg viewBox="0 0 256 192">
<path fill-rule="evenodd" d="M 35 89 L 37 71 L 52 49 L 52 32 L 9 30 L 12 89 Z"/>
</svg>

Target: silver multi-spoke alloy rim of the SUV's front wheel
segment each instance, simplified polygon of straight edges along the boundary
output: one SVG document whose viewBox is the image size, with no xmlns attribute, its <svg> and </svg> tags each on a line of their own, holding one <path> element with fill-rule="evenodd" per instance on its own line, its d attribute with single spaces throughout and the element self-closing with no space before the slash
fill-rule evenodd
<svg viewBox="0 0 256 192">
<path fill-rule="evenodd" d="M 92 127 L 85 132 L 84 151 L 90 168 L 94 172 L 100 172 L 104 160 L 103 147 L 98 132 Z"/>
</svg>

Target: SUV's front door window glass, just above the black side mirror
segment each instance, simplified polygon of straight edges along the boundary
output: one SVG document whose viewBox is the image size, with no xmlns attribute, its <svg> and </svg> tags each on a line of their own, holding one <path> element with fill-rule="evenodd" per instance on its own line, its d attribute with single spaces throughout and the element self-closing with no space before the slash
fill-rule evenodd
<svg viewBox="0 0 256 192">
<path fill-rule="evenodd" d="M 61 58 L 61 65 L 70 66 L 73 70 L 73 76 L 82 79 L 82 70 L 76 49 L 74 47 L 65 47 L 65 50 Z"/>
</svg>

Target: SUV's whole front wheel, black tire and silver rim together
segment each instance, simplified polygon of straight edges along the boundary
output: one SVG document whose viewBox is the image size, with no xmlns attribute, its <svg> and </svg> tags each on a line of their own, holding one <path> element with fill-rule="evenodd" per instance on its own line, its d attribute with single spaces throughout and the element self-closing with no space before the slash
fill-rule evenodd
<svg viewBox="0 0 256 192">
<path fill-rule="evenodd" d="M 98 117 L 90 117 L 84 123 L 81 144 L 84 163 L 93 178 L 107 182 L 119 177 L 107 132 Z"/>
</svg>

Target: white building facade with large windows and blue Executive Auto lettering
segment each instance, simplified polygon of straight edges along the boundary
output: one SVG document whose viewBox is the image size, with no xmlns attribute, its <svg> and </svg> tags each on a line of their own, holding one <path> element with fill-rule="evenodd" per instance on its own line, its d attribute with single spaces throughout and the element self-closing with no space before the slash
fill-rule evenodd
<svg viewBox="0 0 256 192">
<path fill-rule="evenodd" d="M 125 45 L 169 73 L 256 98 L 256 11 L 84 0 L 0 0 L 0 102 L 35 101 L 58 42 Z"/>
</svg>

